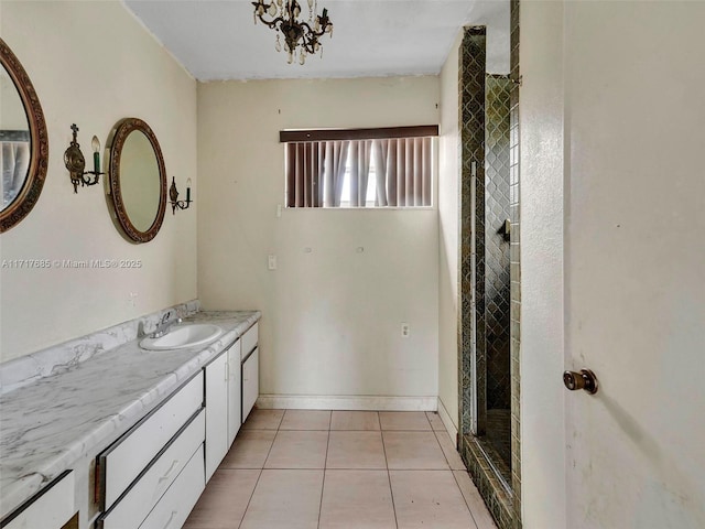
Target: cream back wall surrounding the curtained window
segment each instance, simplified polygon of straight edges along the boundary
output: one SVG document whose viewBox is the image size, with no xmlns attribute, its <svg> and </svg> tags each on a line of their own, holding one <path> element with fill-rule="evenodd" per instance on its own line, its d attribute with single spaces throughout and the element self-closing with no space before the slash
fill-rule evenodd
<svg viewBox="0 0 705 529">
<path fill-rule="evenodd" d="M 437 77 L 198 86 L 198 292 L 262 311 L 262 393 L 437 395 L 437 210 L 276 206 L 281 129 L 437 123 L 438 97 Z"/>
</svg>

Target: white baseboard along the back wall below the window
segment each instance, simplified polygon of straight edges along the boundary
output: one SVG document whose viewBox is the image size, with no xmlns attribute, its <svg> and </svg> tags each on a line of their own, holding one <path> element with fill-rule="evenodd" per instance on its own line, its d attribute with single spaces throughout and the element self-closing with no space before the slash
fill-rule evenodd
<svg viewBox="0 0 705 529">
<path fill-rule="evenodd" d="M 437 404 L 437 397 L 260 395 L 257 399 L 258 408 L 289 410 L 436 411 Z"/>
</svg>

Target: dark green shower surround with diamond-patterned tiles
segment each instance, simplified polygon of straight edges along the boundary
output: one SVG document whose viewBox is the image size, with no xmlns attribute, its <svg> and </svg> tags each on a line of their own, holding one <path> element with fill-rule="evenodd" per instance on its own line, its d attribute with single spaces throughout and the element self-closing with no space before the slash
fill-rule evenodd
<svg viewBox="0 0 705 529">
<path fill-rule="evenodd" d="M 511 0 L 510 23 L 509 78 L 488 76 L 486 79 L 485 28 L 469 26 L 460 47 L 458 87 L 462 155 L 459 449 L 501 529 L 521 528 L 519 0 Z M 494 105 L 498 108 L 494 109 Z M 501 116 L 495 111 L 498 109 L 501 109 Z M 474 208 L 473 197 L 485 208 Z M 509 244 L 502 234 L 498 234 L 507 218 L 511 220 Z M 473 268 L 475 282 L 471 280 Z M 487 432 L 487 408 L 509 411 L 511 456 L 503 454 L 509 461 L 503 461 L 496 445 L 482 438 Z"/>
</svg>

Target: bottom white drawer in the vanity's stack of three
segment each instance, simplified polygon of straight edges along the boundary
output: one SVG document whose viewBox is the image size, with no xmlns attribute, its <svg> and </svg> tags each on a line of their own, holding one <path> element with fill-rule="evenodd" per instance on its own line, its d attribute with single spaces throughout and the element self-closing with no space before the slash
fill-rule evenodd
<svg viewBox="0 0 705 529">
<path fill-rule="evenodd" d="M 140 529 L 178 529 L 206 487 L 203 444 L 169 487 Z"/>
</svg>

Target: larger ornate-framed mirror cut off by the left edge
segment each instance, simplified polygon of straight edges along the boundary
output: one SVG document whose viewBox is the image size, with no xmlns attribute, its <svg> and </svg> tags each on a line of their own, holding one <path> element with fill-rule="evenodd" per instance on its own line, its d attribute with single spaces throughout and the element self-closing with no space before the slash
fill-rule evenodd
<svg viewBox="0 0 705 529">
<path fill-rule="evenodd" d="M 0 39 L 0 233 L 32 210 L 48 164 L 48 136 L 40 99 L 10 46 Z"/>
</svg>

